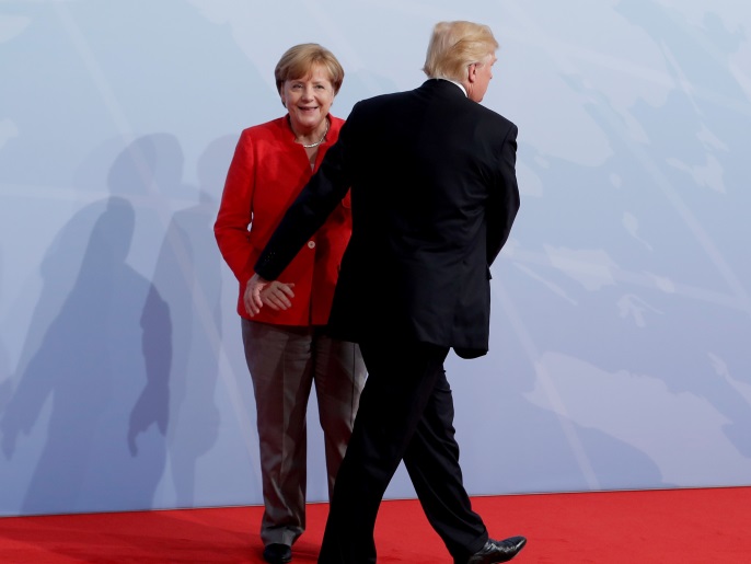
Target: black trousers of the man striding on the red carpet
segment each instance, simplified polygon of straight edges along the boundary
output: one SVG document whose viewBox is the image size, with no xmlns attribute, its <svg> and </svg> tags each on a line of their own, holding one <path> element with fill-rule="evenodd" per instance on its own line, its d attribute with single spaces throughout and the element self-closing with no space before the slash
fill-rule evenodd
<svg viewBox="0 0 751 564">
<path fill-rule="evenodd" d="M 368 380 L 336 477 L 319 564 L 376 562 L 378 509 L 402 460 L 428 521 L 462 562 L 482 549 L 488 533 L 462 483 L 443 370 L 449 348 L 379 337 L 360 342 L 360 350 Z"/>
</svg>

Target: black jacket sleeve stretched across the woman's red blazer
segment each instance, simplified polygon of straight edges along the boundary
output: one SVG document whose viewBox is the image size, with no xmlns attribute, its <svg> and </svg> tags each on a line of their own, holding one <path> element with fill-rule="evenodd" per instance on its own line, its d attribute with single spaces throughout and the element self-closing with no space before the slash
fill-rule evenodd
<svg viewBox="0 0 751 564">
<path fill-rule="evenodd" d="M 263 278 L 276 280 L 347 195 L 350 183 L 343 143 L 346 128 L 345 123 L 339 139 L 328 149 L 317 172 L 286 211 L 258 256 L 254 269 Z"/>
</svg>

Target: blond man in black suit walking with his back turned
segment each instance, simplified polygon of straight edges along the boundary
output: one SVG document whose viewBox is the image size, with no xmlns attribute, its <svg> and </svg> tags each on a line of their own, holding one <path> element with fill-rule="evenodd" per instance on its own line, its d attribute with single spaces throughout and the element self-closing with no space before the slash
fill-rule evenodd
<svg viewBox="0 0 751 564">
<path fill-rule="evenodd" d="M 351 188 L 353 234 L 328 331 L 359 343 L 368 380 L 336 477 L 321 564 L 376 562 L 379 505 L 401 461 L 455 563 L 511 560 L 472 510 L 443 361 L 488 350 L 490 265 L 519 209 L 517 127 L 480 105 L 498 43 L 486 25 L 434 28 L 419 88 L 358 102 L 255 264 L 245 307 L 285 309 L 276 280 Z M 325 250 L 322 250 L 325 252 Z"/>
</svg>

